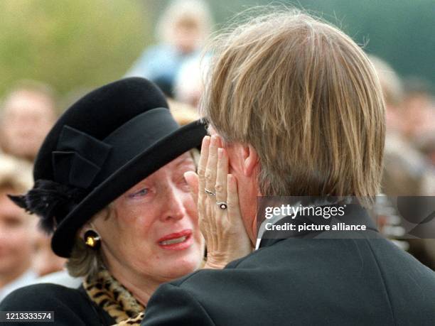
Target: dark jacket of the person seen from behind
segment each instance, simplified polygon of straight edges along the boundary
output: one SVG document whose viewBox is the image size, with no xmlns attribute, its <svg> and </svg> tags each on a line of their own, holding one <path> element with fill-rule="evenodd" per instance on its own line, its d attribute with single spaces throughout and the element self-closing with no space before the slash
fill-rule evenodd
<svg viewBox="0 0 435 326">
<path fill-rule="evenodd" d="M 435 273 L 387 239 L 269 239 L 160 286 L 141 325 L 435 325 Z"/>
</svg>

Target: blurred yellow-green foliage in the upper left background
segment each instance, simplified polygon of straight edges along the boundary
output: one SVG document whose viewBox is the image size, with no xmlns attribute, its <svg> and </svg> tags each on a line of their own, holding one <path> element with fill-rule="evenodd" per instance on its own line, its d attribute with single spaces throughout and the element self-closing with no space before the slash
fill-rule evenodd
<svg viewBox="0 0 435 326">
<path fill-rule="evenodd" d="M 148 15 L 131 0 L 1 0 L 0 94 L 22 78 L 60 94 L 119 78 L 152 38 Z"/>
</svg>

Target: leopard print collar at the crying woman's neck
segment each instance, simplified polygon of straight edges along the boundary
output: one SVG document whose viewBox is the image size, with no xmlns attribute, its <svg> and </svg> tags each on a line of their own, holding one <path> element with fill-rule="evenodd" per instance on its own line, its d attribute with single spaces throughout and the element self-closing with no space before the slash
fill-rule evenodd
<svg viewBox="0 0 435 326">
<path fill-rule="evenodd" d="M 102 270 L 92 278 L 83 281 L 83 288 L 89 298 L 106 311 L 117 323 L 127 320 L 139 320 L 144 317 L 144 305 L 119 283 L 109 271 Z M 131 324 L 127 324 L 131 325 Z"/>
</svg>

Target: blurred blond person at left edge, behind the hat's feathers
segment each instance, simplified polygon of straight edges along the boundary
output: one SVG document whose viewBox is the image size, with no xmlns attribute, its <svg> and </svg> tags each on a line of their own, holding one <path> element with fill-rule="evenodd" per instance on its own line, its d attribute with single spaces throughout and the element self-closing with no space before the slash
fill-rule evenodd
<svg viewBox="0 0 435 326">
<path fill-rule="evenodd" d="M 16 159 L 0 154 L 0 301 L 16 288 L 33 283 L 34 217 L 7 197 L 31 185 L 31 170 Z"/>
</svg>

